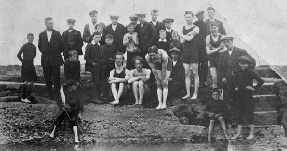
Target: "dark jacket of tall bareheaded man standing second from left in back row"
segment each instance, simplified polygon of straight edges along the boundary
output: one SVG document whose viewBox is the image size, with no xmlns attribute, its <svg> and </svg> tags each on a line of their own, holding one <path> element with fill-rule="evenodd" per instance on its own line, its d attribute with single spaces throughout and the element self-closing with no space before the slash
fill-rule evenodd
<svg viewBox="0 0 287 151">
<path fill-rule="evenodd" d="M 42 67 L 61 66 L 64 64 L 61 53 L 65 45 L 63 37 L 59 31 L 52 30 L 50 42 L 48 41 L 46 30 L 39 34 L 38 48 L 41 55 Z"/>
</svg>

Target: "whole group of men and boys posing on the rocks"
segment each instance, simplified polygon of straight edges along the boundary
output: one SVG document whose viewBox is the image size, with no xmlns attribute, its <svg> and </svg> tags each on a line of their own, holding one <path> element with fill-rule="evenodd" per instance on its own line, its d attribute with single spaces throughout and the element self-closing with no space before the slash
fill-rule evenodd
<svg viewBox="0 0 287 151">
<path fill-rule="evenodd" d="M 119 104 L 120 98 L 127 97 L 128 90 L 132 89 L 135 105 L 143 103 L 143 99 L 150 94 L 149 82 L 154 81 L 157 86 L 157 110 L 167 107 L 168 97 L 173 97 L 185 85 L 186 95 L 182 99 L 198 98 L 199 85 L 206 85 L 208 75 L 208 61 L 212 76 L 212 100 L 208 102 L 206 112 L 210 117 L 210 136 L 215 119 L 219 119 L 226 137 L 226 128 L 223 117 L 227 112 L 226 102 L 219 99 L 221 90 L 227 94 L 226 100 L 236 100 L 239 109 L 238 133 L 233 137 L 242 137 L 241 129 L 244 123 L 244 113 L 247 113 L 247 122 L 250 124 L 250 135 L 253 139 L 254 130 L 254 103 L 252 91 L 263 84 L 255 72 L 255 60 L 247 51 L 233 45 L 233 37 L 226 35 L 223 23 L 214 18 L 215 10 L 207 8 L 209 19 L 204 21 L 203 10 L 198 11 L 198 18 L 193 22 L 192 11 L 185 11 L 186 25 L 182 32 L 174 31 L 171 27 L 173 18 L 165 18 L 163 22 L 157 20 L 158 10 L 152 10 L 152 21 L 145 21 L 145 13 L 131 15 L 127 26 L 118 23 L 119 16 L 110 15 L 111 24 L 105 26 L 98 22 L 98 12 L 89 13 L 91 21 L 85 25 L 81 37 L 80 31 L 73 29 L 74 19 L 67 20 L 68 30 L 61 35 L 53 29 L 53 19 L 45 19 L 46 30 L 39 34 L 38 48 L 41 52 L 41 65 L 46 82 L 47 95 L 50 99 L 61 97 L 60 66 L 64 64 L 64 76 L 67 89 L 64 91 L 65 100 L 70 104 L 67 108 L 60 106 L 72 118 L 75 142 L 77 137 L 77 120 L 81 119 L 83 100 L 78 91 L 80 86 L 80 61 L 83 55 L 83 42 L 88 43 L 85 48 L 85 71 L 92 74 L 93 103 L 102 104 L 105 100 L 103 86 L 110 84 L 110 93 L 114 101 L 110 104 Z M 140 22 L 139 24 L 137 22 Z M 21 76 L 24 81 L 21 101 L 31 103 L 29 98 L 34 81 L 37 80 L 33 59 L 36 56 L 36 47 L 33 45 L 34 35 L 27 35 L 28 43 L 23 45 L 18 53 L 22 61 Z M 23 53 L 23 59 L 21 54 Z M 63 53 L 65 61 L 61 56 Z M 124 66 L 124 53 L 127 53 Z M 194 78 L 194 92 L 190 94 L 191 71 Z M 54 81 L 54 92 L 52 89 Z M 258 84 L 253 87 L 252 81 Z M 78 87 L 78 88 L 77 88 Z M 63 96 L 63 95 L 62 95 Z M 230 104 L 229 104 L 230 105 Z M 59 126 L 65 113 L 56 120 Z M 69 117 L 70 117 L 69 116 Z M 54 137 L 56 126 L 50 137 Z"/>
</svg>

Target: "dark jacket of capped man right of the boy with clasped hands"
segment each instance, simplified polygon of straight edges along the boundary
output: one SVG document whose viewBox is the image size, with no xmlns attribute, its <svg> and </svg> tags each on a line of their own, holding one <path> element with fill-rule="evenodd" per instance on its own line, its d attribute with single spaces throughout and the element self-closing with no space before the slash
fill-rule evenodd
<svg viewBox="0 0 287 151">
<path fill-rule="evenodd" d="M 145 55 L 149 47 L 152 47 L 157 39 L 155 28 L 151 23 L 144 22 L 143 27 L 139 24 L 139 48 L 142 55 Z"/>
</svg>

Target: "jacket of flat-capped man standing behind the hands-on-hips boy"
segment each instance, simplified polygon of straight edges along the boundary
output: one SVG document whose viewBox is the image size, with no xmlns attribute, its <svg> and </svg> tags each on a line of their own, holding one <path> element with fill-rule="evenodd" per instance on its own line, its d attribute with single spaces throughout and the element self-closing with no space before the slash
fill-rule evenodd
<svg viewBox="0 0 287 151">
<path fill-rule="evenodd" d="M 243 55 L 247 56 L 252 62 L 252 63 L 248 64 L 248 68 L 251 69 L 251 70 L 255 69 L 255 65 L 256 65 L 255 59 L 246 50 L 234 47 L 234 50 L 233 50 L 232 53 L 235 53 L 235 58 L 238 58 L 238 57 L 243 56 Z M 222 81 L 222 78 L 225 77 L 225 74 L 226 74 L 227 55 L 229 55 L 228 54 L 228 50 L 223 51 L 220 54 L 220 59 L 219 59 L 219 62 L 218 62 L 218 67 L 217 67 L 218 81 L 219 82 Z M 240 67 L 238 65 L 235 72 L 239 71 L 239 68 Z"/>
</svg>

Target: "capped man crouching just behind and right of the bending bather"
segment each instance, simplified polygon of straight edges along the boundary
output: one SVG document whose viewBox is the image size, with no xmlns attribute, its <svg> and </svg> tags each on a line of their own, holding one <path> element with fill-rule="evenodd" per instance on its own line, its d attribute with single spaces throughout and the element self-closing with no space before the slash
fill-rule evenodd
<svg viewBox="0 0 287 151">
<path fill-rule="evenodd" d="M 168 52 L 173 61 L 172 71 L 168 79 L 168 98 L 174 98 L 179 90 L 185 88 L 184 68 L 181 61 L 181 51 L 174 47 Z"/>
</svg>

